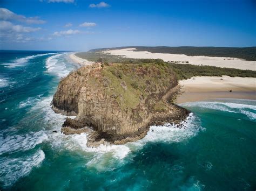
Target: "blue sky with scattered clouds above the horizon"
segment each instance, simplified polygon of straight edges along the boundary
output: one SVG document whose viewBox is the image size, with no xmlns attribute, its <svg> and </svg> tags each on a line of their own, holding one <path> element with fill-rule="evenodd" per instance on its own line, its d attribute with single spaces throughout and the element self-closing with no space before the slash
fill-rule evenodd
<svg viewBox="0 0 256 191">
<path fill-rule="evenodd" d="M 0 0 L 0 49 L 256 46 L 255 0 Z"/>
</svg>

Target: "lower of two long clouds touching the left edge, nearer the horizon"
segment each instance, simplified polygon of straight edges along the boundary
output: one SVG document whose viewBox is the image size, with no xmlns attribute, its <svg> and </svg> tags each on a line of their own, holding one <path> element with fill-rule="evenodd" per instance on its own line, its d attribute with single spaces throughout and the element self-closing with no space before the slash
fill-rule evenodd
<svg viewBox="0 0 256 191">
<path fill-rule="evenodd" d="M 22 25 L 14 25 L 8 21 L 0 21 L 0 31 L 1 33 L 29 33 L 41 30 L 40 27 L 28 27 Z"/>
</svg>

